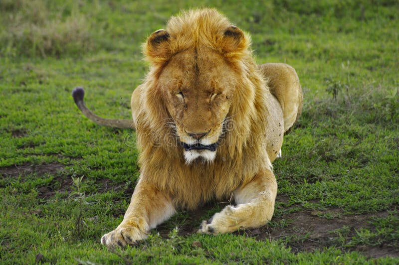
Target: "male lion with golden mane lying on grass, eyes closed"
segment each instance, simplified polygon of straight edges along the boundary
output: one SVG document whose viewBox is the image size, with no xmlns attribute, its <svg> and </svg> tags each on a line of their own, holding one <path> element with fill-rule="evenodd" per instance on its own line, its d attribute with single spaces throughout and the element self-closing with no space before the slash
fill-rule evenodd
<svg viewBox="0 0 399 265">
<path fill-rule="evenodd" d="M 215 9 L 171 17 L 143 45 L 151 68 L 132 94 L 133 120 L 91 113 L 100 125 L 136 130 L 140 177 L 108 248 L 135 244 L 178 209 L 232 198 L 199 233 L 258 228 L 271 220 L 277 182 L 271 162 L 298 120 L 302 88 L 291 66 L 256 65 L 250 36 Z"/>
</svg>

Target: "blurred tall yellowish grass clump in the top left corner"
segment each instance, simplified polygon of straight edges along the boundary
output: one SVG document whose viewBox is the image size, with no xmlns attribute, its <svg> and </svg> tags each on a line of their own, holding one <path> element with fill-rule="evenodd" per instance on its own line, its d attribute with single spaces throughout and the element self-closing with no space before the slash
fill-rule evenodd
<svg viewBox="0 0 399 265">
<path fill-rule="evenodd" d="M 90 22 L 77 3 L 0 1 L 0 53 L 7 56 L 78 55 L 91 50 Z"/>
</svg>

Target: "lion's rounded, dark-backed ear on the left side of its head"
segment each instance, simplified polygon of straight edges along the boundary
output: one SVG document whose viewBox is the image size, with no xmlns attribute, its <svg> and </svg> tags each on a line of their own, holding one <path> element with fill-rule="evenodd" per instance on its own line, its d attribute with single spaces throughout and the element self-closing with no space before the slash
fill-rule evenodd
<svg viewBox="0 0 399 265">
<path fill-rule="evenodd" d="M 171 36 L 165 29 L 152 33 L 144 45 L 144 54 L 152 64 L 164 63 L 170 56 Z"/>
</svg>

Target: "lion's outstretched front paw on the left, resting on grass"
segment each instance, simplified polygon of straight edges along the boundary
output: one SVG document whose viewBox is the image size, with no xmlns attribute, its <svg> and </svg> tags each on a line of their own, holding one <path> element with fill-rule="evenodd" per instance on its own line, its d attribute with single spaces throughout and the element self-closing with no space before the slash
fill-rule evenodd
<svg viewBox="0 0 399 265">
<path fill-rule="evenodd" d="M 147 233 L 141 231 L 138 227 L 118 227 L 105 234 L 101 238 L 101 244 L 109 249 L 114 249 L 117 246 L 123 248 L 127 244 L 133 245 L 145 238 L 147 238 Z"/>
</svg>

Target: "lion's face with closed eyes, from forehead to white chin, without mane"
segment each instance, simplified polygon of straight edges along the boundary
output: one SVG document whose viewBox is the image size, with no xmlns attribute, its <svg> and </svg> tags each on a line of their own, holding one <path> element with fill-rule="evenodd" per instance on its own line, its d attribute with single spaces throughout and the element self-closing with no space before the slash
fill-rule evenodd
<svg viewBox="0 0 399 265">
<path fill-rule="evenodd" d="M 212 161 L 235 88 L 232 68 L 211 50 L 186 50 L 169 60 L 158 81 L 186 162 Z"/>
</svg>

